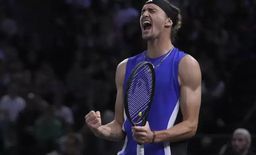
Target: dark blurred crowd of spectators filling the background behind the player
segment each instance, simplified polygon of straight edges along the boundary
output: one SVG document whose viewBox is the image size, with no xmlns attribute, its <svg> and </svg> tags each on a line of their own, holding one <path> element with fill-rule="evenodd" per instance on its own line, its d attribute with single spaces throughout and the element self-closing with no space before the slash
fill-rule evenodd
<svg viewBox="0 0 256 155">
<path fill-rule="evenodd" d="M 218 153 L 229 138 L 207 134 L 256 131 L 256 0 L 173 3 L 183 16 L 173 43 L 202 70 L 199 136 L 190 140 L 189 151 Z M 0 0 L 1 155 L 118 151 L 122 143 L 95 138 L 84 116 L 99 110 L 103 124 L 113 120 L 116 66 L 146 49 L 143 4 Z"/>
</svg>

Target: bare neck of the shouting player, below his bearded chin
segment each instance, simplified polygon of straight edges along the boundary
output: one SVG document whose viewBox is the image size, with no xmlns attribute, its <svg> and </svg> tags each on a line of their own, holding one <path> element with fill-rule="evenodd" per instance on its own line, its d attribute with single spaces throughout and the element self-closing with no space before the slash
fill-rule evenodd
<svg viewBox="0 0 256 155">
<path fill-rule="evenodd" d="M 167 53 L 173 44 L 169 38 L 157 38 L 147 41 L 147 56 L 157 58 Z"/>
</svg>

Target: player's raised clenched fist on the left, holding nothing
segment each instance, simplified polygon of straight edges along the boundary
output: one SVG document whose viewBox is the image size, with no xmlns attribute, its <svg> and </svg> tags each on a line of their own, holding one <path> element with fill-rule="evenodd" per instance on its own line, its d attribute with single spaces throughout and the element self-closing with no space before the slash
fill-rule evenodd
<svg viewBox="0 0 256 155">
<path fill-rule="evenodd" d="M 101 113 L 91 111 L 85 116 L 85 123 L 93 131 L 95 136 L 99 136 L 102 133 L 101 128 Z"/>
</svg>

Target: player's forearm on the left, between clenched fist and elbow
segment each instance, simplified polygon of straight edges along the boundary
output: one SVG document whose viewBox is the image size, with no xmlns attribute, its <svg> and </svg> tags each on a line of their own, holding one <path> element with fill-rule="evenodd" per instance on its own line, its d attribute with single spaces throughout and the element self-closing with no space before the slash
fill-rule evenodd
<svg viewBox="0 0 256 155">
<path fill-rule="evenodd" d="M 116 121 L 112 121 L 107 125 L 102 126 L 102 134 L 99 136 L 107 140 L 120 141 L 124 136 L 122 126 L 119 125 Z"/>
</svg>

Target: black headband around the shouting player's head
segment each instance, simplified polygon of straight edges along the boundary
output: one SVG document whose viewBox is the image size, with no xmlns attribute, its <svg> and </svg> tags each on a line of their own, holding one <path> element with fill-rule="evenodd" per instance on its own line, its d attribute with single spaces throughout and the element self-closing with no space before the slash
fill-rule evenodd
<svg viewBox="0 0 256 155">
<path fill-rule="evenodd" d="M 168 4 L 167 2 L 163 1 L 163 0 L 148 0 L 144 6 L 146 4 L 155 4 L 157 6 L 159 6 L 163 11 L 165 11 L 165 13 L 167 14 L 167 16 L 169 18 L 171 18 L 171 20 L 173 21 L 173 26 L 176 25 L 176 16 L 175 16 L 175 11 L 173 10 L 173 8 L 170 6 L 170 4 Z"/>
</svg>

